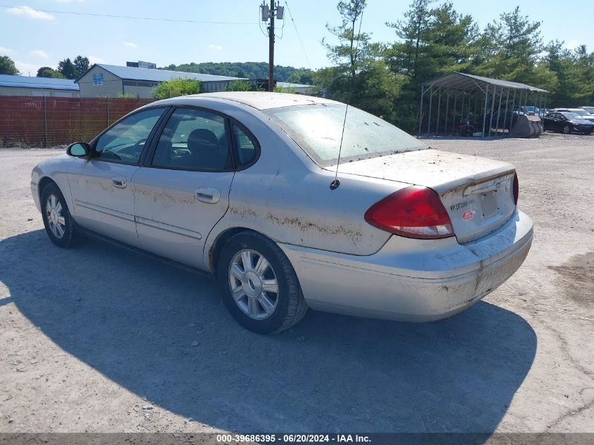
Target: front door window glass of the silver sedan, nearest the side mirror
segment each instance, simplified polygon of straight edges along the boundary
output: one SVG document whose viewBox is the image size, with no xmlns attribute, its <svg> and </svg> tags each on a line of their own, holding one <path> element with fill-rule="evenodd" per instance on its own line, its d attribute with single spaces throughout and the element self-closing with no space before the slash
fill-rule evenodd
<svg viewBox="0 0 594 445">
<path fill-rule="evenodd" d="M 93 157 L 138 164 L 150 131 L 162 114 L 163 108 L 153 108 L 137 112 L 115 124 L 99 136 Z"/>
</svg>

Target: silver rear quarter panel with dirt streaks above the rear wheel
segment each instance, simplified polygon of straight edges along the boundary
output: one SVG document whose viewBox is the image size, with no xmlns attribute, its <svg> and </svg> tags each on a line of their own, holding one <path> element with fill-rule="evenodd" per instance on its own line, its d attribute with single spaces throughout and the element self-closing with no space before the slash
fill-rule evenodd
<svg viewBox="0 0 594 445">
<path fill-rule="evenodd" d="M 331 191 L 334 174 L 315 165 L 266 115 L 254 109 L 227 114 L 254 133 L 262 151 L 252 167 L 235 174 L 229 209 L 205 245 L 207 269 L 217 238 L 236 227 L 277 243 L 355 255 L 373 254 L 387 242 L 391 234 L 368 224 L 363 215 L 404 184 L 341 174 L 340 187 Z"/>
</svg>

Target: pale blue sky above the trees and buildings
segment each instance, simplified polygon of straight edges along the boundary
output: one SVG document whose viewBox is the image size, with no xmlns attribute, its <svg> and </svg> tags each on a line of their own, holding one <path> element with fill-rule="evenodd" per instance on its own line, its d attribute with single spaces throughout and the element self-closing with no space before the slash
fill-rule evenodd
<svg viewBox="0 0 594 445">
<path fill-rule="evenodd" d="M 10 56 L 23 75 L 35 75 L 41 66 L 55 67 L 58 60 L 88 56 L 91 63 L 125 65 L 127 60 L 147 60 L 158 66 L 190 62 L 248 62 L 268 60 L 268 41 L 259 29 L 261 0 L 0 0 L 0 55 Z M 281 0 L 281 4 L 287 2 Z M 377 41 L 393 41 L 386 21 L 402 18 L 408 0 L 368 0 L 362 30 Z M 325 24 L 340 22 L 337 0 L 289 0 L 297 32 L 285 8 L 277 34 L 275 63 L 318 68 L 328 65 L 321 39 Z M 484 27 L 502 12 L 512 11 L 518 0 L 453 0 L 454 7 L 472 13 Z M 529 8 L 529 5 L 534 8 Z M 522 2 L 531 20 L 541 21 L 545 41 L 559 39 L 568 47 L 586 44 L 594 51 L 594 1 Z M 13 8 L 18 6 L 20 8 Z M 131 20 L 45 11 L 70 11 L 104 15 L 129 15 L 226 23 Z"/>
</svg>

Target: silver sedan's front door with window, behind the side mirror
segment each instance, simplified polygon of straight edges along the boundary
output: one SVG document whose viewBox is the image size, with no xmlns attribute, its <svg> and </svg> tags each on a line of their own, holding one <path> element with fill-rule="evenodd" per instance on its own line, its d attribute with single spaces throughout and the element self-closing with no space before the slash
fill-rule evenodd
<svg viewBox="0 0 594 445">
<path fill-rule="evenodd" d="M 75 159 L 68 181 L 81 226 L 139 246 L 131 180 L 163 112 L 164 108 L 150 108 L 125 117 L 91 144 L 90 159 Z"/>
</svg>

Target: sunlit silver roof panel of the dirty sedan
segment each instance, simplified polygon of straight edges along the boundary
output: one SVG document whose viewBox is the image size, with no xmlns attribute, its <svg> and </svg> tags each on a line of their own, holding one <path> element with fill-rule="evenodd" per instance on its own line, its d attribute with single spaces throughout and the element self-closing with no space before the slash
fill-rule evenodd
<svg viewBox="0 0 594 445">
<path fill-rule="evenodd" d="M 195 99 L 200 98 L 224 99 L 226 101 L 243 103 L 245 105 L 249 105 L 250 107 L 256 108 L 257 110 L 268 110 L 270 108 L 290 107 L 295 105 L 339 103 L 336 101 L 331 101 L 330 99 L 305 96 L 303 94 L 269 93 L 266 91 L 225 91 L 221 93 L 202 93 L 166 100 L 177 103 L 186 103 L 189 105 Z"/>
</svg>

